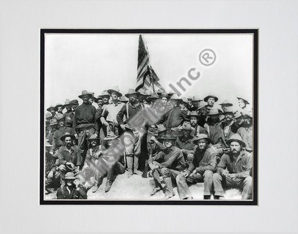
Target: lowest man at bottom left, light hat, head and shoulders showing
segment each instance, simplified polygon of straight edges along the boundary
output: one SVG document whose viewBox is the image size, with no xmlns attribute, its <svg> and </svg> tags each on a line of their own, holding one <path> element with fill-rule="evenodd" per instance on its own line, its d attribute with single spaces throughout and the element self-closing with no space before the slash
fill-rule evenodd
<svg viewBox="0 0 298 234">
<path fill-rule="evenodd" d="M 66 173 L 63 185 L 57 190 L 57 199 L 87 199 L 87 194 L 74 173 Z"/>
</svg>

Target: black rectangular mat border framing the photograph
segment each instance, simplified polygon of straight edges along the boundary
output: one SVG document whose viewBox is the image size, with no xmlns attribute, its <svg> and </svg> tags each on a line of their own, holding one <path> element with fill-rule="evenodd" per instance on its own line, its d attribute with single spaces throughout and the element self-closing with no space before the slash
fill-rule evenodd
<svg viewBox="0 0 298 234">
<path fill-rule="evenodd" d="M 82 34 L 248 34 L 253 36 L 253 199 L 252 200 L 148 200 L 148 199 L 75 199 L 44 198 L 44 101 L 45 101 L 45 35 L 48 33 Z M 259 29 L 41 29 L 40 30 L 40 168 L 39 204 L 73 205 L 258 205 L 258 95 L 259 95 Z"/>
</svg>

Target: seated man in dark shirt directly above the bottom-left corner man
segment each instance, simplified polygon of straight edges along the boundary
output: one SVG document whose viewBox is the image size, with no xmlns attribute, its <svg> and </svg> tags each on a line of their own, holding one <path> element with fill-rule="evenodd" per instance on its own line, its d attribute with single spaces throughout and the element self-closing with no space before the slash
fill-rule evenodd
<svg viewBox="0 0 298 234">
<path fill-rule="evenodd" d="M 57 150 L 59 165 L 66 166 L 66 173 L 78 173 L 82 159 L 78 147 L 73 145 L 75 139 L 74 135 L 65 133 L 60 139 L 62 142 L 64 142 L 64 146 L 61 146 L 59 150 Z M 63 175 L 61 175 L 61 177 L 63 178 Z"/>
</svg>

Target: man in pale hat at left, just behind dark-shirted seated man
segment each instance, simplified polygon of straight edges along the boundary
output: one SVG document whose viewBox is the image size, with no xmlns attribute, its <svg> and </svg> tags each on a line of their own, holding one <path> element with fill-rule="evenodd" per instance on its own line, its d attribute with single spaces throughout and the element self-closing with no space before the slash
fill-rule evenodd
<svg viewBox="0 0 298 234">
<path fill-rule="evenodd" d="M 53 146 L 51 149 L 51 153 L 53 154 L 56 152 L 56 150 L 58 150 L 60 146 L 63 146 L 64 142 L 61 141 L 61 137 L 64 134 L 66 133 L 70 133 L 72 135 L 75 134 L 73 128 L 65 126 L 64 117 L 61 113 L 57 113 L 56 119 L 57 119 L 58 128 L 57 130 L 55 130 L 53 135 L 53 140 L 52 140 Z"/>
</svg>

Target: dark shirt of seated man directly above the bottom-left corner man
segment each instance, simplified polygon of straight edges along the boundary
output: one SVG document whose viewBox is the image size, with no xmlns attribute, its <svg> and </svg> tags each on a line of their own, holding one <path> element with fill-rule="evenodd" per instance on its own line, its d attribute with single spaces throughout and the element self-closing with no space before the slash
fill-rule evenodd
<svg viewBox="0 0 298 234">
<path fill-rule="evenodd" d="M 82 158 L 77 146 L 72 146 L 70 151 L 68 151 L 66 146 L 61 146 L 57 151 L 57 156 L 59 158 L 59 165 L 72 162 L 74 166 L 81 166 Z"/>
</svg>

